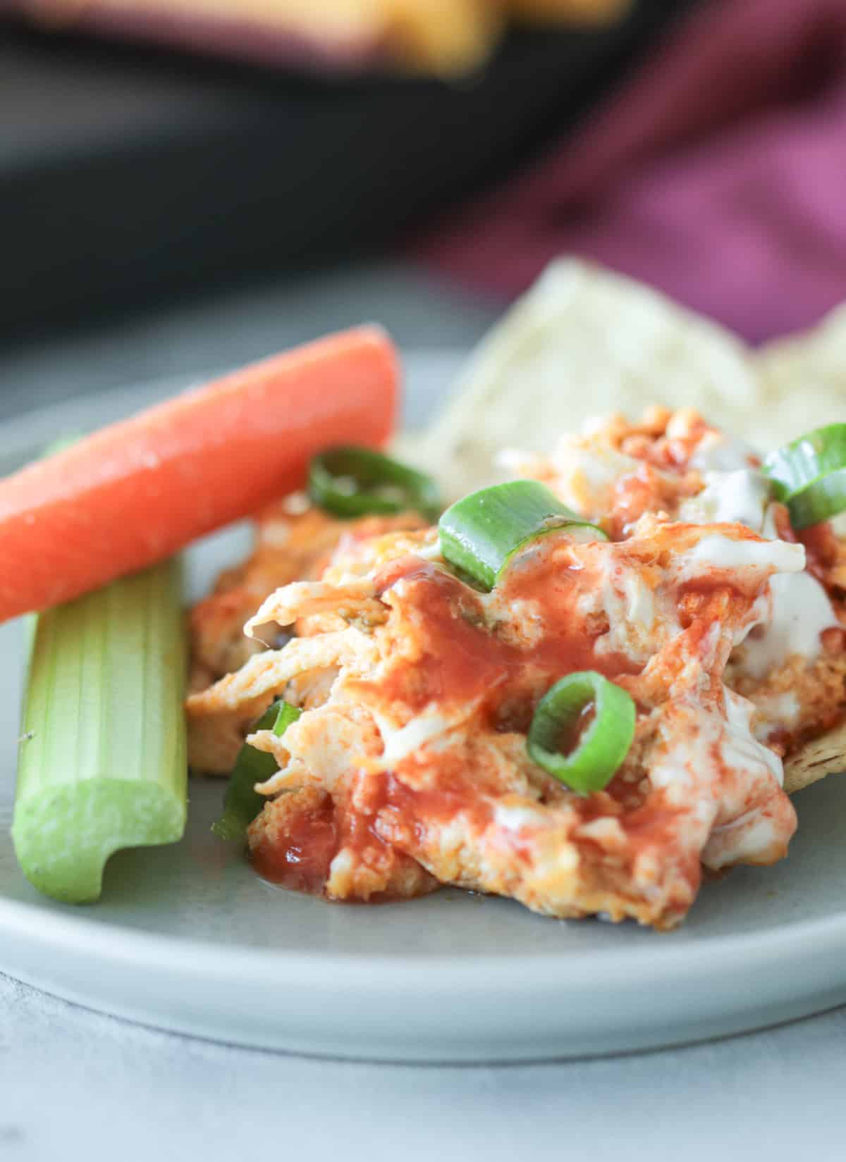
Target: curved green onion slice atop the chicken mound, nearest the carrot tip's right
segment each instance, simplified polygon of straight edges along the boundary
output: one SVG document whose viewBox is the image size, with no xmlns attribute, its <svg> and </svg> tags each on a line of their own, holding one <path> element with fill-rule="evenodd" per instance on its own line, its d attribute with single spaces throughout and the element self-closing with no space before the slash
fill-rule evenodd
<svg viewBox="0 0 846 1162">
<path fill-rule="evenodd" d="M 490 590 L 518 550 L 537 537 L 566 532 L 608 540 L 537 480 L 510 480 L 456 501 L 438 522 L 440 552 L 482 589 Z"/>
</svg>

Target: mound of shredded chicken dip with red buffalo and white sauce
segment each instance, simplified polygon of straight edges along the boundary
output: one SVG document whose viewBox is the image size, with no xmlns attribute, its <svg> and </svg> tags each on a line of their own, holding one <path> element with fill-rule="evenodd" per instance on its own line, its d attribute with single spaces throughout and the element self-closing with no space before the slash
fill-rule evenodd
<svg viewBox="0 0 846 1162">
<path fill-rule="evenodd" d="M 759 503 L 758 466 L 695 413 L 612 417 L 518 465 L 608 541 L 540 538 L 482 594 L 431 530 L 336 536 L 323 567 L 253 597 L 248 640 L 296 636 L 187 711 L 206 769 L 231 766 L 272 698 L 303 711 L 281 738 L 249 736 L 279 766 L 257 788 L 257 869 L 331 899 L 451 883 L 671 927 L 703 868 L 782 858 L 796 817 L 781 756 L 846 712 L 844 566 L 838 543 L 806 554 Z M 729 485 L 741 518 L 708 519 Z M 810 626 L 788 617 L 793 584 L 818 587 Z M 637 705 L 628 758 L 588 796 L 526 751 L 538 700 L 581 669 Z"/>
</svg>

